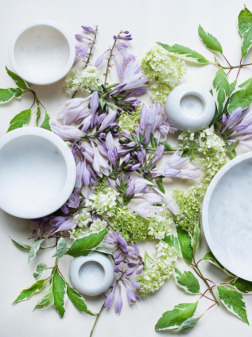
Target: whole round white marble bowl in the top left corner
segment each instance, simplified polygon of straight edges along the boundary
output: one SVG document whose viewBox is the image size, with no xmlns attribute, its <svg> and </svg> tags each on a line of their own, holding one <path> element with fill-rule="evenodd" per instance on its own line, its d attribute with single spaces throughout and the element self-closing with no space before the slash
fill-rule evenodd
<svg viewBox="0 0 252 337">
<path fill-rule="evenodd" d="M 12 36 L 9 60 L 25 81 L 46 85 L 61 80 L 72 68 L 75 45 L 59 24 L 48 20 L 31 21 Z"/>
</svg>

